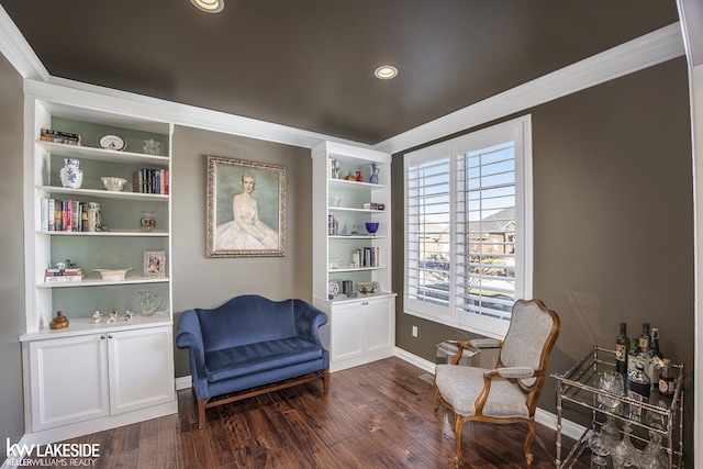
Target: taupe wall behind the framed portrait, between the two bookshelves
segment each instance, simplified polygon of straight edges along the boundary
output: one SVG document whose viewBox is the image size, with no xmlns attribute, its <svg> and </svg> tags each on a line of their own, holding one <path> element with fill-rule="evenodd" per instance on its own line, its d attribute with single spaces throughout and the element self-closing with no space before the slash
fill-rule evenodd
<svg viewBox="0 0 703 469">
<path fill-rule="evenodd" d="M 205 155 L 286 167 L 286 256 L 205 257 Z M 312 301 L 312 158 L 310 150 L 177 126 L 172 170 L 174 319 L 239 294 Z M 256 197 L 256 191 L 254 191 Z M 176 376 L 189 376 L 188 354 L 176 349 Z"/>
</svg>

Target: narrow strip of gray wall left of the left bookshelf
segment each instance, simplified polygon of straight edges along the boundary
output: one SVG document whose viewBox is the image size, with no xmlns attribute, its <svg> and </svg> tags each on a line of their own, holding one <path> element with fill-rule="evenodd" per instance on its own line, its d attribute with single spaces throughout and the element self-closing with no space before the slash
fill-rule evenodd
<svg viewBox="0 0 703 469">
<path fill-rule="evenodd" d="M 0 54 L 0 160 L 4 223 L 0 223 L 0 440 L 16 443 L 24 434 L 20 335 L 24 333 L 24 220 L 22 78 Z"/>
</svg>

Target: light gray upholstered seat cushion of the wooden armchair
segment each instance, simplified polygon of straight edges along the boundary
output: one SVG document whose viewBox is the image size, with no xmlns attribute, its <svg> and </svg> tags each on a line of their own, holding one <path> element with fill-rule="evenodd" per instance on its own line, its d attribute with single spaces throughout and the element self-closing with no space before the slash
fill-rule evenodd
<svg viewBox="0 0 703 469">
<path fill-rule="evenodd" d="M 442 370 L 440 370 L 442 368 Z M 476 415 L 475 402 L 483 390 L 486 368 L 437 365 L 435 384 L 443 398 L 461 416 Z M 483 406 L 483 415 L 496 418 L 529 418 L 526 397 L 506 379 L 491 380 L 491 392 Z"/>
</svg>

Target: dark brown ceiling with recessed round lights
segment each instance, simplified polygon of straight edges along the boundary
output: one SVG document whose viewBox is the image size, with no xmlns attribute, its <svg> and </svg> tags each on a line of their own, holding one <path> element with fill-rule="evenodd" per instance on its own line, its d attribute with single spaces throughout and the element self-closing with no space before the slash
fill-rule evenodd
<svg viewBox="0 0 703 469">
<path fill-rule="evenodd" d="M 0 4 L 52 76 L 370 144 L 678 21 L 674 0 L 224 1 Z"/>
</svg>

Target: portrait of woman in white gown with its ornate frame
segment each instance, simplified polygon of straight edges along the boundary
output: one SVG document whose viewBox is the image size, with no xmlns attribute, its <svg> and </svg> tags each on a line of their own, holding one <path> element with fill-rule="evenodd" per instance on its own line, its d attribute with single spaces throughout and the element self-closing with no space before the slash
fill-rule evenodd
<svg viewBox="0 0 703 469">
<path fill-rule="evenodd" d="M 207 257 L 283 256 L 286 168 L 207 156 Z"/>
</svg>

